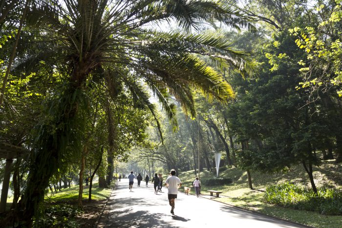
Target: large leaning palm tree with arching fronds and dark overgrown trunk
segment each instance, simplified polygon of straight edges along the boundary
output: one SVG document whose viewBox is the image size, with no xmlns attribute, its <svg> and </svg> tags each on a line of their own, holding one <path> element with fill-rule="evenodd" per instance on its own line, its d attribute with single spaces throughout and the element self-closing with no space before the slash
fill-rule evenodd
<svg viewBox="0 0 342 228">
<path fill-rule="evenodd" d="M 51 118 L 39 125 L 28 184 L 14 213 L 23 226 L 32 225 L 32 216 L 43 200 L 49 178 L 65 156 L 68 142 L 77 140 L 73 138 L 75 117 L 80 108 L 87 106 L 82 105 L 87 99 L 85 91 L 90 84 L 103 82 L 92 80 L 95 76 L 105 79 L 111 96 L 126 89 L 137 104 L 154 114 L 146 90 L 149 88 L 176 126 L 173 98 L 186 113 L 195 116 L 194 91 L 222 103 L 234 96 L 230 85 L 198 55 L 208 56 L 218 65 L 230 63 L 242 74 L 254 67 L 247 55 L 235 51 L 224 38 L 196 33 L 203 22 L 254 29 L 250 18 L 230 1 L 60 2 L 36 0 L 30 5 L 25 29 L 38 29 L 44 48 L 40 54 L 17 62 L 17 67 L 32 67 L 42 60 L 64 56 L 55 64 L 67 66 L 63 90 L 51 95 L 54 97 L 49 103 Z M 152 26 L 171 21 L 182 30 L 160 31 Z M 123 85 L 121 90 L 112 89 L 118 84 Z M 157 118 L 155 121 L 159 125 Z"/>
</svg>

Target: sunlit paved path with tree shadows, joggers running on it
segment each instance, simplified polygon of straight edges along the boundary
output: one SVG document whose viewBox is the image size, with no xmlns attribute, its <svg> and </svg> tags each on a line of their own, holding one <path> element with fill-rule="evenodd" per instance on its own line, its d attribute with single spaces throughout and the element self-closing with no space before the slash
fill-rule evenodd
<svg viewBox="0 0 342 228">
<path fill-rule="evenodd" d="M 300 228 L 253 212 L 241 210 L 220 202 L 178 192 L 174 216 L 171 215 L 168 189 L 154 194 L 153 184 L 137 187 L 132 191 L 128 179 L 121 179 L 114 188 L 98 228 Z M 192 189 L 193 193 L 193 189 Z"/>
</svg>

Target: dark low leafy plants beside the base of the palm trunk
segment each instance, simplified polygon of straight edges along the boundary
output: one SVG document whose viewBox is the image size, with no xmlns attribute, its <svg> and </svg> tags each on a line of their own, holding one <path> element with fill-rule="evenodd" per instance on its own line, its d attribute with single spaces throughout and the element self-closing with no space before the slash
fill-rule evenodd
<svg viewBox="0 0 342 228">
<path fill-rule="evenodd" d="M 53 205 L 45 208 L 41 216 L 36 217 L 34 227 L 49 228 L 76 228 L 79 227 L 75 217 L 82 213 L 82 210 L 68 204 Z"/>
</svg>

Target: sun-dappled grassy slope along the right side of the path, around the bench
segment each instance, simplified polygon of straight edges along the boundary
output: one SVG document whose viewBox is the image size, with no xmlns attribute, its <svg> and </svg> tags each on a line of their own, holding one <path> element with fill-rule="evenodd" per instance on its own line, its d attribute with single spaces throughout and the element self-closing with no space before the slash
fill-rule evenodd
<svg viewBox="0 0 342 228">
<path fill-rule="evenodd" d="M 342 164 L 336 165 L 334 161 L 327 161 L 320 167 L 314 168 L 314 178 L 317 187 L 334 187 L 342 190 Z M 212 178 L 216 171 L 203 171 L 200 173 L 201 180 Z M 342 216 L 326 216 L 318 212 L 300 211 L 290 208 L 278 207 L 266 204 L 263 201 L 263 190 L 269 186 L 285 181 L 298 185 L 311 187 L 303 166 L 293 166 L 290 170 L 264 174 L 251 171 L 252 183 L 255 190 L 248 188 L 247 173 L 239 168 L 229 168 L 219 171 L 219 177 L 231 178 L 233 183 L 224 186 L 202 186 L 202 194 L 208 194 L 206 190 L 214 189 L 223 191 L 222 197 L 217 201 L 230 205 L 255 210 L 259 213 L 276 216 L 278 218 L 299 222 L 318 228 L 337 228 L 342 226 Z M 181 178 L 185 186 L 191 186 L 194 180 L 194 172 L 182 172 Z"/>
</svg>

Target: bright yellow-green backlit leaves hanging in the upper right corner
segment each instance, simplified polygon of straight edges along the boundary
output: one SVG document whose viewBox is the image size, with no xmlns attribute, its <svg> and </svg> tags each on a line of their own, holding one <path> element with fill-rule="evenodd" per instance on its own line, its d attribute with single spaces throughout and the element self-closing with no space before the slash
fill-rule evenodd
<svg viewBox="0 0 342 228">
<path fill-rule="evenodd" d="M 306 59 L 298 62 L 302 66 L 303 82 L 297 89 L 325 91 L 328 88 L 336 93 L 333 96 L 342 97 L 342 1 L 318 1 L 313 8 L 318 12 L 316 24 L 289 29 L 297 38 L 297 46 L 307 53 Z"/>
</svg>

